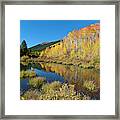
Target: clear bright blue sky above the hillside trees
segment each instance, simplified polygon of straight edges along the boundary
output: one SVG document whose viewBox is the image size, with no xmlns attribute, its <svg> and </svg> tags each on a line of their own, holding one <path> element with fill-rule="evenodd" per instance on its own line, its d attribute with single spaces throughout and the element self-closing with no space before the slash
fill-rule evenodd
<svg viewBox="0 0 120 120">
<path fill-rule="evenodd" d="M 80 29 L 99 20 L 20 20 L 20 42 L 27 46 L 51 42 L 64 38 L 68 32 Z"/>
</svg>

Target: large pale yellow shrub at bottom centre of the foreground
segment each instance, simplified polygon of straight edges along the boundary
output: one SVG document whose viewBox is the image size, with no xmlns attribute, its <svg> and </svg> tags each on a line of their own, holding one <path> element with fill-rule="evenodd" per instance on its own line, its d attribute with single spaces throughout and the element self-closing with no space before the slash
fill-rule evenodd
<svg viewBox="0 0 120 120">
<path fill-rule="evenodd" d="M 48 89 L 49 88 L 49 89 Z M 57 88 L 57 89 L 56 89 Z M 74 91 L 74 85 L 61 84 L 59 82 L 53 82 L 43 87 L 43 92 L 39 99 L 42 100 L 80 100 L 80 94 L 76 94 Z"/>
</svg>

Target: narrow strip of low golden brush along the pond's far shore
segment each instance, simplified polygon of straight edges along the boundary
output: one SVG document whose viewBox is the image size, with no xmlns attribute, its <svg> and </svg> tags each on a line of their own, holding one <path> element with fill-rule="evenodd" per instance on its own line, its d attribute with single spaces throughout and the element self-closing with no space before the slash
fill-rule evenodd
<svg viewBox="0 0 120 120">
<path fill-rule="evenodd" d="M 100 69 L 100 61 L 99 59 L 93 60 L 93 61 L 84 61 L 84 60 L 79 60 L 75 58 L 67 58 L 67 57 L 62 57 L 61 59 L 58 58 L 30 58 L 28 56 L 22 56 L 20 59 L 20 62 L 23 65 L 28 65 L 29 63 L 39 63 L 39 62 L 46 62 L 46 63 L 56 63 L 56 64 L 63 64 L 63 65 L 77 65 L 81 68 L 85 69 Z"/>
</svg>

